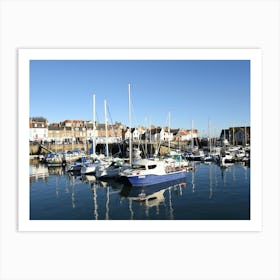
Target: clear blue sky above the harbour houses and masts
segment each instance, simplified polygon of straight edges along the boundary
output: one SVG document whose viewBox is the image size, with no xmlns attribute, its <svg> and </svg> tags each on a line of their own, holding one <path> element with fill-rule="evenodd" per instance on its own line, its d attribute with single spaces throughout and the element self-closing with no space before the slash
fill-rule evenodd
<svg viewBox="0 0 280 280">
<path fill-rule="evenodd" d="M 249 60 L 32 60 L 30 117 L 50 123 L 92 120 L 128 125 L 128 83 L 132 126 L 151 123 L 194 128 L 200 136 L 230 126 L 250 125 Z M 148 121 L 147 121 L 148 120 Z"/>
</svg>

